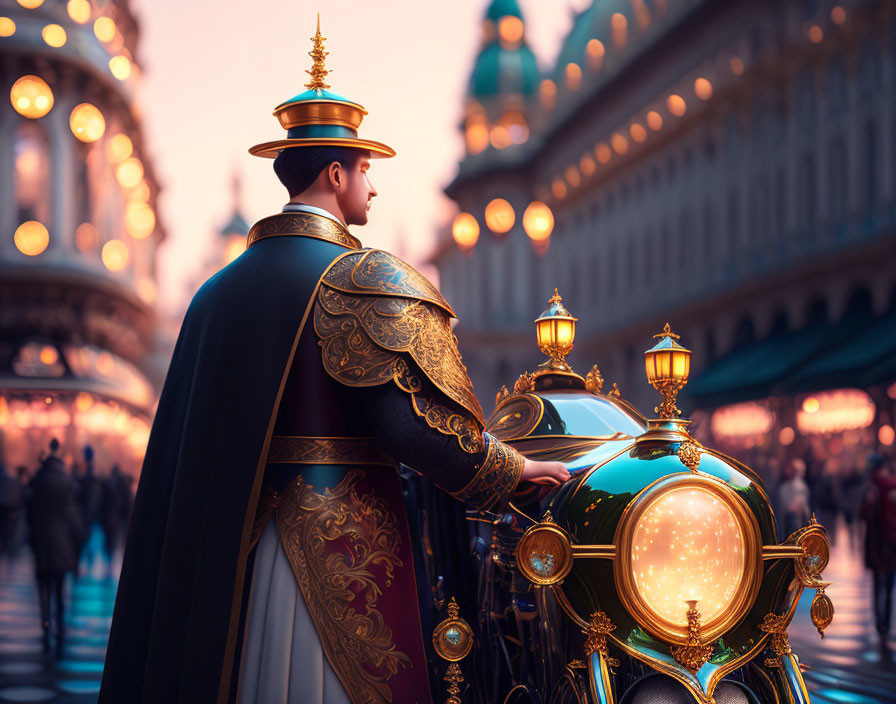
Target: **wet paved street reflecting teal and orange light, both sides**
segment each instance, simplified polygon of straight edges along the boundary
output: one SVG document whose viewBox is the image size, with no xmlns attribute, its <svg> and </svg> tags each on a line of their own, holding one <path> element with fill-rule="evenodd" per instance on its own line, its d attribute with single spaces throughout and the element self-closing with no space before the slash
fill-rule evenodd
<svg viewBox="0 0 896 704">
<path fill-rule="evenodd" d="M 812 626 L 806 591 L 789 628 L 814 704 L 896 703 L 896 656 L 882 654 L 871 618 L 870 575 L 841 526 L 825 578 L 836 616 L 824 640 Z M 62 658 L 44 654 L 30 558 L 0 565 L 0 703 L 92 704 L 102 677 L 116 580 L 101 559 L 67 587 Z M 896 639 L 891 639 L 896 649 Z"/>
</svg>

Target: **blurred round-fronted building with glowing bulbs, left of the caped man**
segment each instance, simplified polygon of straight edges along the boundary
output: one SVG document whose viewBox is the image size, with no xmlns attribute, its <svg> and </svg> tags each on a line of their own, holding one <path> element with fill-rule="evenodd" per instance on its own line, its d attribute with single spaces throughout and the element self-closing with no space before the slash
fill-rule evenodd
<svg viewBox="0 0 896 704">
<path fill-rule="evenodd" d="M 128 0 L 0 0 L 0 433 L 33 467 L 57 436 L 136 471 L 157 347 L 159 186 Z"/>
</svg>

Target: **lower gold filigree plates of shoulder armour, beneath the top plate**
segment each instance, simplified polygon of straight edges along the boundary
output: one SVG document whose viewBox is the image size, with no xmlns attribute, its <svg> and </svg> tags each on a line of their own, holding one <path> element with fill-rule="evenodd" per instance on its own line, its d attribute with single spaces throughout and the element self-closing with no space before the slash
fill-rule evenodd
<svg viewBox="0 0 896 704">
<path fill-rule="evenodd" d="M 314 330 L 324 368 L 337 381 L 373 386 L 394 379 L 405 391 L 416 393 L 420 380 L 397 354 L 404 353 L 450 400 L 469 411 L 480 429 L 485 427 L 457 339 L 439 308 L 418 300 L 351 295 L 322 286 Z"/>
</svg>

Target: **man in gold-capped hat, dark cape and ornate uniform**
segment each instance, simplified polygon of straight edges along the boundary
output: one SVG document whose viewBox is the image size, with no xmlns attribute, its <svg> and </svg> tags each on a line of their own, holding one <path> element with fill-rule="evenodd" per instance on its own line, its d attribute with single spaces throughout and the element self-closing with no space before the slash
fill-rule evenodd
<svg viewBox="0 0 896 704">
<path fill-rule="evenodd" d="M 399 462 L 499 507 L 526 460 L 484 432 L 439 291 L 362 249 L 366 114 L 324 83 L 279 105 L 278 215 L 194 297 L 134 505 L 100 701 L 430 700 Z"/>
</svg>

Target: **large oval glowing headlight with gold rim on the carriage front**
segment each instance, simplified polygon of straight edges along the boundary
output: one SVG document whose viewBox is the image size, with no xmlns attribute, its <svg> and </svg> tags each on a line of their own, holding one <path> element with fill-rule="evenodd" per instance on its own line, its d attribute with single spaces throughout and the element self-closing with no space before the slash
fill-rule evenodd
<svg viewBox="0 0 896 704">
<path fill-rule="evenodd" d="M 759 524 L 734 490 L 711 477 L 676 474 L 642 490 L 614 542 L 619 597 L 663 642 L 687 643 L 687 601 L 697 601 L 700 638 L 711 643 L 746 615 L 759 591 Z"/>
</svg>

